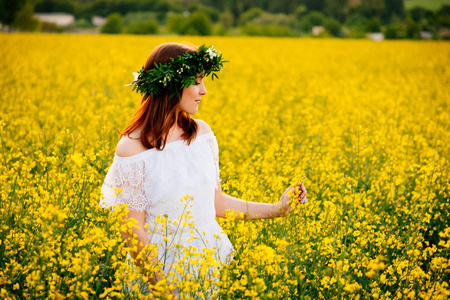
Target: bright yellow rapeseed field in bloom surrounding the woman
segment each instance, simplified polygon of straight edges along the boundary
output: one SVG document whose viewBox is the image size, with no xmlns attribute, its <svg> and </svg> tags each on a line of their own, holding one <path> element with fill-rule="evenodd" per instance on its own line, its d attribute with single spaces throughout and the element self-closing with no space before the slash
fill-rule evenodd
<svg viewBox="0 0 450 300">
<path fill-rule="evenodd" d="M 124 286 L 141 276 L 124 210 L 98 202 L 140 102 L 124 85 L 183 40 L 230 61 L 196 115 L 217 136 L 224 192 L 274 203 L 302 180 L 309 202 L 221 220 L 234 260 L 217 283 L 213 253 L 186 256 L 176 267 L 199 273 L 181 298 L 450 297 L 448 42 L 0 34 L 0 298 L 171 297 L 168 279 Z"/>
</svg>

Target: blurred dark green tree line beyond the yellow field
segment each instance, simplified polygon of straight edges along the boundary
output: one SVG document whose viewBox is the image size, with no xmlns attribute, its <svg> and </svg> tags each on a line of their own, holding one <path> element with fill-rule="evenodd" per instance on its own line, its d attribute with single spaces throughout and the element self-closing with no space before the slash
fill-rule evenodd
<svg viewBox="0 0 450 300">
<path fill-rule="evenodd" d="M 404 0 L 0 0 L 0 11 L 0 22 L 18 29 L 30 12 L 69 13 L 79 27 L 108 17 L 105 33 L 304 36 L 318 26 L 322 36 L 420 38 L 450 28 L 449 5 L 406 10 Z"/>
</svg>

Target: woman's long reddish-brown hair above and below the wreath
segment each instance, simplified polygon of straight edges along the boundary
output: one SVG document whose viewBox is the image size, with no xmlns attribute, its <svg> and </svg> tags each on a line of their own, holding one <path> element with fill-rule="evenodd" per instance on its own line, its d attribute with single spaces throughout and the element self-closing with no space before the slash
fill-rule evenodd
<svg viewBox="0 0 450 300">
<path fill-rule="evenodd" d="M 196 52 L 197 48 L 179 43 L 165 43 L 157 46 L 145 63 L 145 71 L 155 68 L 155 63 L 168 63 L 171 57 L 180 56 L 186 52 Z M 178 91 L 182 95 L 183 91 Z M 140 140 L 145 148 L 163 150 L 166 146 L 167 136 L 170 128 L 178 123 L 183 129 L 182 138 L 190 144 L 197 136 L 197 123 L 188 113 L 178 112 L 177 105 L 180 98 L 177 95 L 169 95 L 169 91 L 164 91 L 157 97 L 144 96 L 141 104 L 135 112 L 133 118 L 128 122 L 123 132 L 119 131 L 120 137 L 142 127 Z"/>
</svg>

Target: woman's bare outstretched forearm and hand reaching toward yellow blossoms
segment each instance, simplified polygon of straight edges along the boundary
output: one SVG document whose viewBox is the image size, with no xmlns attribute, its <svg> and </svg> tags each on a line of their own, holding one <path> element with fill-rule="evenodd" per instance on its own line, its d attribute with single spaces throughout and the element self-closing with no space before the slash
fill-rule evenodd
<svg viewBox="0 0 450 300">
<path fill-rule="evenodd" d="M 306 189 L 301 185 L 300 199 L 303 203 L 306 199 Z M 257 220 L 270 219 L 277 217 L 285 217 L 289 214 L 290 200 L 289 191 L 294 191 L 294 188 L 288 188 L 280 200 L 275 203 L 249 202 L 241 200 L 222 193 L 222 188 L 219 186 L 216 189 L 214 204 L 216 207 L 216 216 L 224 218 L 228 210 L 234 210 L 237 213 L 237 220 Z M 239 213 L 243 213 L 239 214 Z"/>
</svg>

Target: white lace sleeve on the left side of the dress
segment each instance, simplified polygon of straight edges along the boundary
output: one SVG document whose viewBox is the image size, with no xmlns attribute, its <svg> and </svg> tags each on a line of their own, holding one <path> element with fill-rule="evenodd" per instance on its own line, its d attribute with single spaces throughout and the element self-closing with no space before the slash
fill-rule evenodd
<svg viewBox="0 0 450 300">
<path fill-rule="evenodd" d="M 116 157 L 103 182 L 100 205 L 111 207 L 124 203 L 129 210 L 145 210 L 148 200 L 143 188 L 144 176 L 143 160 Z"/>
</svg>

